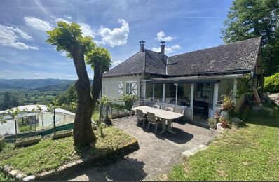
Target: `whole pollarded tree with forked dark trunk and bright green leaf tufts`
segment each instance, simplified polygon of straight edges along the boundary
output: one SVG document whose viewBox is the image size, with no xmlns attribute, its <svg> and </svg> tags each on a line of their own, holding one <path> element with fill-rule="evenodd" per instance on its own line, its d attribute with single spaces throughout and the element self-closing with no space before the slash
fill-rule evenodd
<svg viewBox="0 0 279 182">
<path fill-rule="evenodd" d="M 67 52 L 67 56 L 74 61 L 78 76 L 75 83 L 78 102 L 74 119 L 74 145 L 94 145 L 96 137 L 91 127 L 91 116 L 102 89 L 102 71 L 109 69 L 106 66 L 110 65 L 110 59 L 100 59 L 102 54 L 98 50 L 102 50 L 102 48 L 96 48 L 90 36 L 83 37 L 81 29 L 76 23 L 58 22 L 57 26 L 52 31 L 46 31 L 49 34 L 46 41 L 55 45 L 57 51 L 64 50 Z M 91 64 L 94 68 L 91 90 L 84 60 L 85 56 L 88 56 L 88 64 Z M 109 62 L 104 63 L 103 61 Z"/>
</svg>

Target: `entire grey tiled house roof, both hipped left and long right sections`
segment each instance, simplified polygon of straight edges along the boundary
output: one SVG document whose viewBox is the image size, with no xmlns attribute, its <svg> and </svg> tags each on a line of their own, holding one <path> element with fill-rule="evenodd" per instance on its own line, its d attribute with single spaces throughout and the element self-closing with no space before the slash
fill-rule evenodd
<svg viewBox="0 0 279 182">
<path fill-rule="evenodd" d="M 162 61 L 160 53 L 145 49 L 137 52 L 118 66 L 103 74 L 103 77 L 122 76 L 132 73 L 155 73 L 163 75 L 187 75 L 194 73 L 252 70 L 257 64 L 261 38 L 228 43 L 213 48 L 196 50 Z M 166 62 L 168 59 L 168 73 Z M 144 67 L 145 62 L 145 67 Z"/>
</svg>

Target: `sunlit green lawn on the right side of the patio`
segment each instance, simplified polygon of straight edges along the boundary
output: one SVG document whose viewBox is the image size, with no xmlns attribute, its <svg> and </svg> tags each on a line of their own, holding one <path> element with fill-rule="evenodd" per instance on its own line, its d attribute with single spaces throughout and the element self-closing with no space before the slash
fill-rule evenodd
<svg viewBox="0 0 279 182">
<path fill-rule="evenodd" d="M 279 179 L 279 112 L 254 111 L 247 127 L 219 134 L 205 151 L 173 167 L 168 179 L 238 181 Z"/>
</svg>

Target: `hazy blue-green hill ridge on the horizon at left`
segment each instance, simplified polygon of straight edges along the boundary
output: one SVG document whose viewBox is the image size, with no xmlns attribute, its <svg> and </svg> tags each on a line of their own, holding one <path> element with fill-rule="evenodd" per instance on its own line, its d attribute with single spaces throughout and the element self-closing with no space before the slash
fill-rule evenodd
<svg viewBox="0 0 279 182">
<path fill-rule="evenodd" d="M 60 79 L 0 79 L 0 90 L 4 89 L 31 89 L 39 91 L 67 90 L 75 80 Z"/>
</svg>

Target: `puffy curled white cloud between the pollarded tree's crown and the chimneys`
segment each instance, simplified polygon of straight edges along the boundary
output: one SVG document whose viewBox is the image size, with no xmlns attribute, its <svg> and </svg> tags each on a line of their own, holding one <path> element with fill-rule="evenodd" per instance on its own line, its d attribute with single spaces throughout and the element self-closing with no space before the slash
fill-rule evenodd
<svg viewBox="0 0 279 182">
<path fill-rule="evenodd" d="M 108 44 L 111 47 L 116 45 L 124 45 L 127 43 L 129 34 L 129 24 L 126 20 L 118 19 L 122 26 L 120 28 L 104 28 L 99 29 L 100 36 L 102 36 L 102 42 Z"/>
</svg>

